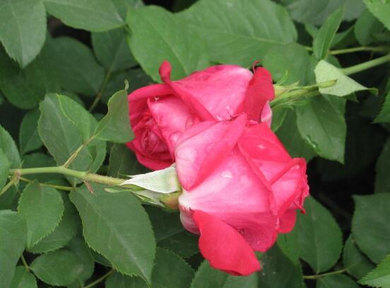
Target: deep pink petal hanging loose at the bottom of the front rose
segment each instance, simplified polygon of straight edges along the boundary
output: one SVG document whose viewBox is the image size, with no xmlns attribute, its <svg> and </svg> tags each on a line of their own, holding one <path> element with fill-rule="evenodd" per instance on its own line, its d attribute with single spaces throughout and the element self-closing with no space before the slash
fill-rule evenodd
<svg viewBox="0 0 390 288">
<path fill-rule="evenodd" d="M 199 227 L 199 249 L 215 269 L 232 275 L 247 276 L 261 269 L 254 251 L 240 233 L 217 217 L 194 212 Z"/>
</svg>

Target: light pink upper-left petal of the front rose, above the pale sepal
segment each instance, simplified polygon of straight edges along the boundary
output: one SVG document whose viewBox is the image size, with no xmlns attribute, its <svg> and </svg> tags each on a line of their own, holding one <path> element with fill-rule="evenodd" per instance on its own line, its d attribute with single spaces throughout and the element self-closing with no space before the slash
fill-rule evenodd
<svg viewBox="0 0 390 288">
<path fill-rule="evenodd" d="M 225 159 L 244 129 L 246 115 L 232 121 L 203 122 L 177 140 L 177 175 L 189 190 L 204 180 Z"/>
</svg>

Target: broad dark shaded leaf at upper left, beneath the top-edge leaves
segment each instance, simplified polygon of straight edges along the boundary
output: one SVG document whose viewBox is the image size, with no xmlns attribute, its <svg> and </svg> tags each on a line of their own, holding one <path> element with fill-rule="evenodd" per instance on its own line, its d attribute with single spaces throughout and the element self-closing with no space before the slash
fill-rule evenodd
<svg viewBox="0 0 390 288">
<path fill-rule="evenodd" d="M 87 96 L 98 94 L 105 69 L 98 64 L 92 51 L 73 38 L 61 37 L 48 41 L 49 59 L 55 67 L 52 73 L 58 76 L 61 87 Z"/>
</svg>

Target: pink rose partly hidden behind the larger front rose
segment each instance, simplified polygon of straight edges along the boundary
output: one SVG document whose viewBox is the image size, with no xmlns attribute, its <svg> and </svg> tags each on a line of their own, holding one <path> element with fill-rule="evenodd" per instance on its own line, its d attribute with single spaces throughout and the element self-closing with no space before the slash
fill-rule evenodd
<svg viewBox="0 0 390 288">
<path fill-rule="evenodd" d="M 130 122 L 135 138 L 127 145 L 144 166 L 158 170 L 175 162 L 175 144 L 192 125 L 230 120 L 238 113 L 270 125 L 268 101 L 274 91 L 264 68 L 254 74 L 234 65 L 197 71 L 179 81 L 170 80 L 171 67 L 163 62 L 164 83 L 140 88 L 129 95 Z"/>
</svg>

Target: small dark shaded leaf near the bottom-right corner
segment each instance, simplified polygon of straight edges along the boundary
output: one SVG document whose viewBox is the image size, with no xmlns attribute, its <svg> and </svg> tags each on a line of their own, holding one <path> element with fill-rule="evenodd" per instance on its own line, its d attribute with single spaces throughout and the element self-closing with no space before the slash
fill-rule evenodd
<svg viewBox="0 0 390 288">
<path fill-rule="evenodd" d="M 374 269 L 374 264 L 359 250 L 352 235 L 345 241 L 343 265 L 347 272 L 356 279 L 360 279 Z"/>
</svg>

